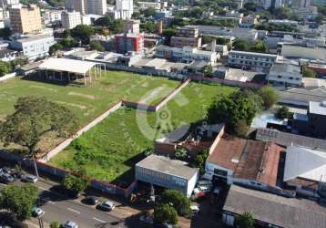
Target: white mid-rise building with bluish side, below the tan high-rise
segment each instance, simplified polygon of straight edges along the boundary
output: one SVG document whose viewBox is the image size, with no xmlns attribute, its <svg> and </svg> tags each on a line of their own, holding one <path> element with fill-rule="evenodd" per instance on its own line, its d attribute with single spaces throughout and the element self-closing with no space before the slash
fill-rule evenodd
<svg viewBox="0 0 326 228">
<path fill-rule="evenodd" d="M 29 61 L 34 61 L 37 58 L 47 57 L 51 46 L 56 44 L 55 38 L 50 34 L 46 35 L 30 35 L 20 36 L 10 42 L 12 49 L 22 51 Z"/>
</svg>

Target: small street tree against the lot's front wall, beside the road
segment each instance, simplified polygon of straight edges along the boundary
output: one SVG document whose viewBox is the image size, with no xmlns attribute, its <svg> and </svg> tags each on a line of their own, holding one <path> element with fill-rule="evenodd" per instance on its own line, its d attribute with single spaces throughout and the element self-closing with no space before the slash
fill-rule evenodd
<svg viewBox="0 0 326 228">
<path fill-rule="evenodd" d="M 79 192 L 83 192 L 87 189 L 89 181 L 81 177 L 68 174 L 62 181 L 62 185 L 66 188 L 66 190 L 72 192 L 74 195 L 78 195 Z"/>
</svg>

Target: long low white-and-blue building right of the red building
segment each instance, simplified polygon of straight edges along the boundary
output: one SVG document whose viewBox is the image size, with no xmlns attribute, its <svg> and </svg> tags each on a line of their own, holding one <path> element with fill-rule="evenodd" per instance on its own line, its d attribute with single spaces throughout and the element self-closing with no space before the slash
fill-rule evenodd
<svg viewBox="0 0 326 228">
<path fill-rule="evenodd" d="M 190 63 L 195 60 L 205 60 L 211 65 L 215 65 L 219 59 L 219 54 L 213 51 L 199 50 L 196 47 L 179 48 L 162 45 L 156 48 L 155 56 L 186 63 Z"/>
</svg>

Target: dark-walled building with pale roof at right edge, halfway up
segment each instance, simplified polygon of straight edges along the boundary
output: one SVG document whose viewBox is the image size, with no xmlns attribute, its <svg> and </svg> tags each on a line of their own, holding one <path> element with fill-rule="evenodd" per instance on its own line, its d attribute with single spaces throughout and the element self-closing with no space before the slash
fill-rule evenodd
<svg viewBox="0 0 326 228">
<path fill-rule="evenodd" d="M 315 138 L 326 138 L 326 102 L 309 102 L 307 115 L 295 113 L 292 132 Z"/>
</svg>

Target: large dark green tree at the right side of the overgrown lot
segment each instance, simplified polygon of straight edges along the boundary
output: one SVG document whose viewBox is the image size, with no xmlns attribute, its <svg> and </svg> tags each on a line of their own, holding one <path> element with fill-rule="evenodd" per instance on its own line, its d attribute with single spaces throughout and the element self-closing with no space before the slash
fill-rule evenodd
<svg viewBox="0 0 326 228">
<path fill-rule="evenodd" d="M 243 89 L 215 100 L 208 110 L 210 123 L 226 123 L 230 131 L 240 119 L 250 126 L 252 119 L 262 109 L 262 99 L 252 91 Z"/>
</svg>

